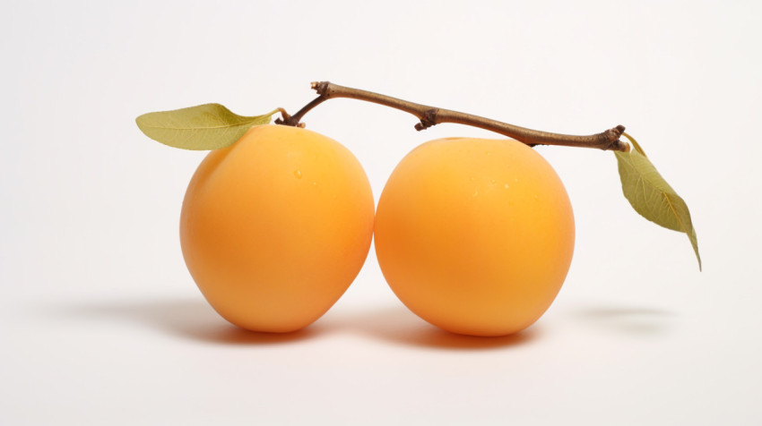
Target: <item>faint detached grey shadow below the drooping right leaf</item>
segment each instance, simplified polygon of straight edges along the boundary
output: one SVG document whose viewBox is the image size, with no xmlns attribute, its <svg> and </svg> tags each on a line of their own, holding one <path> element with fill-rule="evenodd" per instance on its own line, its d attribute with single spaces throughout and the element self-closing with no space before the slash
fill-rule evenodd
<svg viewBox="0 0 762 426">
<path fill-rule="evenodd" d="M 631 336 L 654 336 L 667 332 L 676 315 L 671 311 L 637 307 L 591 307 L 572 313 L 589 326 Z"/>
</svg>

